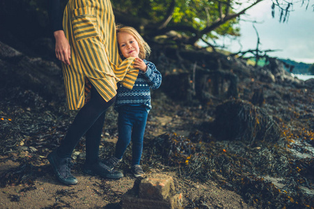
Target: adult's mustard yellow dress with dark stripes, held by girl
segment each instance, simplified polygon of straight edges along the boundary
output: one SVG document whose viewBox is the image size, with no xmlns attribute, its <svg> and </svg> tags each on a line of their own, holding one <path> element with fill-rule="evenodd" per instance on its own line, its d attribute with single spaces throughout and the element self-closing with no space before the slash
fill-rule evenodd
<svg viewBox="0 0 314 209">
<path fill-rule="evenodd" d="M 106 101 L 116 95 L 117 82 L 133 88 L 139 70 L 133 67 L 134 58 L 120 59 L 110 0 L 70 0 L 63 29 L 71 45 L 70 65 L 63 65 L 69 109 L 84 106 L 91 89 L 87 83 Z"/>
</svg>

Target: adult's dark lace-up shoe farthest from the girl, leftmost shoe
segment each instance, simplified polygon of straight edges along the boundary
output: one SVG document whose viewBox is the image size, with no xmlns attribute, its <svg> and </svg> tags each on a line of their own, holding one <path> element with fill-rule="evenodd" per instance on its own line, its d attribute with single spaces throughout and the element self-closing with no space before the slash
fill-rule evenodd
<svg viewBox="0 0 314 209">
<path fill-rule="evenodd" d="M 73 166 L 71 158 L 61 158 L 56 155 L 56 151 L 52 151 L 47 156 L 49 163 L 56 173 L 56 178 L 58 178 L 61 183 L 65 185 L 76 185 L 77 179 L 72 176 L 70 168 Z"/>
</svg>

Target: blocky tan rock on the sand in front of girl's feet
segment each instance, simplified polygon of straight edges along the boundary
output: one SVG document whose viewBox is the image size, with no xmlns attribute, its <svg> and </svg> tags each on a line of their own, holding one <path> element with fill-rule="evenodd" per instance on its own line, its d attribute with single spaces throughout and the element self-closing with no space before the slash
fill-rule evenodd
<svg viewBox="0 0 314 209">
<path fill-rule="evenodd" d="M 171 176 L 151 174 L 136 179 L 134 187 L 123 196 L 122 208 L 182 208 L 182 194 L 175 192 L 175 185 Z"/>
</svg>

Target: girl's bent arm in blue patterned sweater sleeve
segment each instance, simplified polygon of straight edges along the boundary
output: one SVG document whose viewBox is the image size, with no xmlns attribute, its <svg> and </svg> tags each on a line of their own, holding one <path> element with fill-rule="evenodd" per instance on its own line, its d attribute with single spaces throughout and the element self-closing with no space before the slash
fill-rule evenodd
<svg viewBox="0 0 314 209">
<path fill-rule="evenodd" d="M 140 72 L 146 77 L 148 85 L 152 89 L 157 89 L 162 84 L 162 74 L 157 70 L 154 63 L 147 62 L 146 72 Z"/>
</svg>

